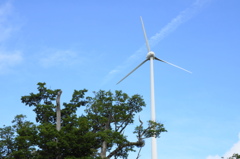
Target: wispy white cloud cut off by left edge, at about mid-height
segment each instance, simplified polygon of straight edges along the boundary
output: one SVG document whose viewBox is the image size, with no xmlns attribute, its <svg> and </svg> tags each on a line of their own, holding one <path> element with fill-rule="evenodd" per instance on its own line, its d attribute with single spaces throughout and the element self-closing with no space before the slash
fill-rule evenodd
<svg viewBox="0 0 240 159">
<path fill-rule="evenodd" d="M 0 74 L 7 73 L 12 67 L 23 61 L 22 54 L 19 51 L 4 52 L 0 51 Z"/>
</svg>

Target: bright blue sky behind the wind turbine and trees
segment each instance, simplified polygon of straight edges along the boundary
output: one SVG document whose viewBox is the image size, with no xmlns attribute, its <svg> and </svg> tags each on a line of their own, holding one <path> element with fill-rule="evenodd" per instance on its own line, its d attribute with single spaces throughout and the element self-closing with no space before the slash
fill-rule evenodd
<svg viewBox="0 0 240 159">
<path fill-rule="evenodd" d="M 0 126 L 17 114 L 34 120 L 20 98 L 38 82 L 62 89 L 143 95 L 150 119 L 149 62 L 142 16 L 155 61 L 157 140 L 161 159 L 220 159 L 240 153 L 240 1 L 0 1 Z M 136 124 L 138 124 L 136 122 Z M 133 125 L 134 126 L 134 125 Z M 129 129 L 130 132 L 130 129 Z M 135 140 L 129 133 L 129 138 Z M 141 158 L 151 156 L 150 140 Z M 130 158 L 136 158 L 131 153 Z"/>
</svg>

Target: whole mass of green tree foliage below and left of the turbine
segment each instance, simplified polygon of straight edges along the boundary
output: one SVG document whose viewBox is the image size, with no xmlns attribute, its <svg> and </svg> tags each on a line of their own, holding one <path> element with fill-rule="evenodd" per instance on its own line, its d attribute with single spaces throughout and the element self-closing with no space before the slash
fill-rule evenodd
<svg viewBox="0 0 240 159">
<path fill-rule="evenodd" d="M 75 90 L 70 102 L 63 103 L 58 131 L 54 103 L 60 90 L 45 85 L 38 83 L 38 93 L 21 98 L 33 107 L 35 123 L 17 115 L 12 126 L 0 128 L 0 158 L 127 158 L 129 152 L 144 146 L 144 139 L 166 132 L 163 124 L 147 121 L 144 127 L 139 118 L 140 125 L 133 130 L 136 139 L 130 141 L 124 132 L 145 106 L 142 97 L 103 90 L 90 97 L 86 89 Z"/>
</svg>

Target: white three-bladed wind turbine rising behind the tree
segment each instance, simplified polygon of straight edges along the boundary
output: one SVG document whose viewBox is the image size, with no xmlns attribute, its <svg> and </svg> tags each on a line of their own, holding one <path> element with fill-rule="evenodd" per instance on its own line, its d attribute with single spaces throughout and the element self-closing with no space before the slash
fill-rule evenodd
<svg viewBox="0 0 240 159">
<path fill-rule="evenodd" d="M 167 61 L 164 61 L 164 60 L 161 60 L 159 58 L 157 58 L 155 56 L 155 53 L 152 52 L 150 50 L 150 46 L 148 44 L 148 39 L 147 39 L 147 34 L 146 34 L 146 31 L 145 31 L 145 28 L 144 28 L 144 24 L 143 24 L 143 20 L 142 20 L 142 17 L 140 17 L 141 19 L 141 23 L 142 23 L 142 29 L 143 29 L 143 33 L 144 33 L 144 38 L 145 38 L 145 41 L 146 41 L 146 46 L 147 46 L 147 50 L 148 50 L 148 54 L 147 54 L 147 59 L 144 60 L 142 63 L 140 63 L 136 68 L 134 68 L 130 73 L 128 73 L 125 77 L 123 77 L 117 84 L 119 84 L 120 82 L 122 82 L 125 78 L 127 78 L 130 74 L 132 74 L 135 70 L 137 70 L 140 66 L 142 66 L 145 62 L 147 62 L 148 60 L 150 60 L 150 86 L 151 86 L 151 120 L 152 121 L 156 121 L 156 117 L 155 117 L 155 97 L 154 97 L 154 72 L 153 72 L 153 60 L 158 60 L 158 61 L 161 61 L 161 62 L 164 62 L 164 63 L 167 63 L 169 65 L 172 65 L 174 67 L 177 67 L 179 69 L 182 69 L 186 72 L 189 72 L 191 73 L 190 71 L 182 68 L 182 67 L 179 67 L 177 65 L 174 65 L 170 62 L 167 62 Z M 155 136 L 152 137 L 152 159 L 157 159 L 157 140 L 155 138 Z"/>
</svg>

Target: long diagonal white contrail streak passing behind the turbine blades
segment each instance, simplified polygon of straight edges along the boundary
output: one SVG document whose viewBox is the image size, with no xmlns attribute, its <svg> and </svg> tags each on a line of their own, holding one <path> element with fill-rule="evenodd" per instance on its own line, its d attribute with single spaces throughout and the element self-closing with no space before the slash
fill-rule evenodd
<svg viewBox="0 0 240 159">
<path fill-rule="evenodd" d="M 170 33 L 175 31 L 181 24 L 187 22 L 192 17 L 194 17 L 206 4 L 211 0 L 196 0 L 190 7 L 181 11 L 175 18 L 173 18 L 166 26 L 164 26 L 159 32 L 154 36 L 150 37 L 149 45 L 154 47 L 161 40 L 163 40 Z M 118 72 L 123 71 L 128 68 L 130 64 L 136 61 L 139 57 L 142 57 L 146 53 L 145 45 L 141 46 L 134 54 L 127 58 L 121 65 L 117 66 L 115 69 L 109 71 L 103 81 L 103 85 L 111 80 Z"/>
</svg>

